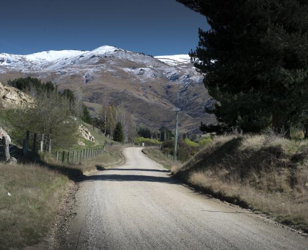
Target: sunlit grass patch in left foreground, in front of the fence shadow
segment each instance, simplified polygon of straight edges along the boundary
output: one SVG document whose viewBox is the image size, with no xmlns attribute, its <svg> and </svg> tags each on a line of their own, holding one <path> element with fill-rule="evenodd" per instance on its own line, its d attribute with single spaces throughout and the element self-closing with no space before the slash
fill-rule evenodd
<svg viewBox="0 0 308 250">
<path fill-rule="evenodd" d="M 0 164 L 0 249 L 21 249 L 44 237 L 68 184 L 66 176 L 39 165 Z"/>
</svg>

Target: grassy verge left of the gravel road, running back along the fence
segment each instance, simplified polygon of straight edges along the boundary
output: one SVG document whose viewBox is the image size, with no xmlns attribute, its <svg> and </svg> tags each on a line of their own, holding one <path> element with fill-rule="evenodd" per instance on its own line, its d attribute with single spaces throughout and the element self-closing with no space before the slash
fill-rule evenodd
<svg viewBox="0 0 308 250">
<path fill-rule="evenodd" d="M 103 135 L 91 134 L 95 143 L 87 142 L 87 147 L 104 143 Z M 103 154 L 79 164 L 61 164 L 48 155 L 40 164 L 0 163 L 0 249 L 22 249 L 44 238 L 73 180 L 87 171 L 120 163 L 122 147 L 106 147 Z"/>
</svg>

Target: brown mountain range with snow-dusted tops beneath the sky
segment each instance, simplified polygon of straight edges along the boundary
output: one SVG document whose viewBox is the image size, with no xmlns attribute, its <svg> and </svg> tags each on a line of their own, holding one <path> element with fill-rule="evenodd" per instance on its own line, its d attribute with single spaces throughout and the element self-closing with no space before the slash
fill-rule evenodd
<svg viewBox="0 0 308 250">
<path fill-rule="evenodd" d="M 191 113 L 203 112 L 208 100 L 203 76 L 196 72 L 188 55 L 152 57 L 113 46 L 31 55 L 0 53 L 0 81 L 29 75 L 52 81 L 60 89 L 75 90 L 96 115 L 100 104 L 123 102 L 136 112 L 140 122 L 153 127 L 173 123 L 172 112 L 161 115 L 159 108 L 153 109 L 153 103 L 170 110 L 174 106 L 182 108 L 186 111 L 182 117 L 187 118 L 181 121 L 183 129 L 191 130 L 200 121 L 194 118 L 198 115 Z M 120 91 L 124 89 L 125 93 Z M 148 102 L 135 102 L 133 95 Z M 203 122 L 205 117 L 213 118 L 202 117 Z"/>
</svg>

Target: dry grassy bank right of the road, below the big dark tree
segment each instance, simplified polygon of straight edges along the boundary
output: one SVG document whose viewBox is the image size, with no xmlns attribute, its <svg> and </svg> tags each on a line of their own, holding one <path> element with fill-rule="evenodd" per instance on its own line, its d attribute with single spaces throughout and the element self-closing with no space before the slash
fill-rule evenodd
<svg viewBox="0 0 308 250">
<path fill-rule="evenodd" d="M 307 152 L 307 140 L 220 136 L 172 172 L 215 197 L 308 231 Z"/>
</svg>

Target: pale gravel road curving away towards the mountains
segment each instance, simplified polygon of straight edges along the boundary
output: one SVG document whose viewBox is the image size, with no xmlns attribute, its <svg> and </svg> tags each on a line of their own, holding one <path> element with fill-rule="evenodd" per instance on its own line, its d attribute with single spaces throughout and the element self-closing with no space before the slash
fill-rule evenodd
<svg viewBox="0 0 308 250">
<path fill-rule="evenodd" d="M 72 250 L 308 250 L 308 238 L 169 177 L 141 148 L 84 180 L 69 222 Z"/>
</svg>

